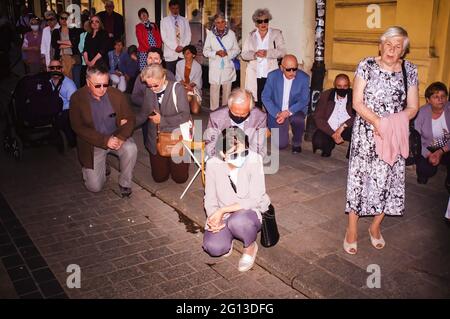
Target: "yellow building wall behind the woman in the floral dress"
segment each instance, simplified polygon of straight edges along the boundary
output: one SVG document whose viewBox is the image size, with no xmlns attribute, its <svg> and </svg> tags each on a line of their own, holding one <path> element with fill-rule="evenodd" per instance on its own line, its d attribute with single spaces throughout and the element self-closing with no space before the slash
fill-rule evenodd
<svg viewBox="0 0 450 319">
<path fill-rule="evenodd" d="M 367 11 L 370 4 L 380 8 L 379 27 L 368 26 L 373 14 Z M 421 102 L 430 83 L 450 85 L 450 0 L 328 0 L 326 18 L 326 88 L 338 73 L 353 78 L 362 58 L 378 55 L 378 39 L 392 25 L 408 31 L 411 52 L 407 59 L 418 66 Z"/>
</svg>

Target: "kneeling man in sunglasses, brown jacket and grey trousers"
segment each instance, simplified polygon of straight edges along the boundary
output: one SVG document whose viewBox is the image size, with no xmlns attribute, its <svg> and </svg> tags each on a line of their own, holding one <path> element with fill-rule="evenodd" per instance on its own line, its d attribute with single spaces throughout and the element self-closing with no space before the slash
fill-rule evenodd
<svg viewBox="0 0 450 319">
<path fill-rule="evenodd" d="M 108 69 L 99 64 L 88 68 L 86 86 L 70 100 L 70 123 L 77 134 L 78 159 L 86 188 L 102 190 L 106 182 L 106 155 L 119 157 L 119 189 L 131 195 L 131 179 L 137 147 L 133 138 L 135 116 L 125 95 L 109 87 Z"/>
</svg>

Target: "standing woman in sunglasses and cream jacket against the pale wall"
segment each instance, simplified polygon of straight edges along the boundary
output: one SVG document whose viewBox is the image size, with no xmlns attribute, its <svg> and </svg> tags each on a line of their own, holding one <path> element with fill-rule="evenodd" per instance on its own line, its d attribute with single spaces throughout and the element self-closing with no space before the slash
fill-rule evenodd
<svg viewBox="0 0 450 319">
<path fill-rule="evenodd" d="M 249 61 L 245 75 L 245 88 L 252 92 L 255 105 L 262 107 L 261 93 L 266 84 L 267 74 L 278 69 L 278 60 L 286 54 L 283 34 L 278 29 L 269 28 L 272 15 L 268 9 L 258 9 L 253 13 L 256 29 L 250 32 L 242 48 L 242 59 Z"/>
</svg>

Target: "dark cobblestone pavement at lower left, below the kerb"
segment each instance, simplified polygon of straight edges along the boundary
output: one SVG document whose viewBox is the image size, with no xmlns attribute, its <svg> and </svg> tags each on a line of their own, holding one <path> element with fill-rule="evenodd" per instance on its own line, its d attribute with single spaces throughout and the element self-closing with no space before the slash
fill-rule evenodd
<svg viewBox="0 0 450 319">
<path fill-rule="evenodd" d="M 240 273 L 238 252 L 208 257 L 200 228 L 140 186 L 120 198 L 115 170 L 104 191 L 88 192 L 74 150 L 0 163 L 0 192 L 17 216 L 0 215 L 0 252 L 21 297 L 305 298 L 257 265 Z M 66 286 L 70 264 L 81 267 L 81 289 Z"/>
</svg>

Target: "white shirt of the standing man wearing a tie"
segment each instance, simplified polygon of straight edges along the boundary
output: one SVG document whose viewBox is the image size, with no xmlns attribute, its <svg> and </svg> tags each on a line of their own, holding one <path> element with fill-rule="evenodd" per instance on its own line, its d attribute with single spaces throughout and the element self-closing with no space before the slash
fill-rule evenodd
<svg viewBox="0 0 450 319">
<path fill-rule="evenodd" d="M 164 42 L 164 59 L 167 62 L 176 61 L 183 58 L 183 53 L 177 53 L 175 49 L 178 45 L 185 47 L 191 43 L 191 26 L 189 21 L 182 16 L 177 16 L 178 26 L 180 27 L 180 43 L 177 43 L 175 31 L 175 17 L 170 15 L 161 20 L 161 38 Z"/>
</svg>

